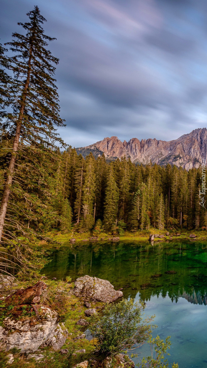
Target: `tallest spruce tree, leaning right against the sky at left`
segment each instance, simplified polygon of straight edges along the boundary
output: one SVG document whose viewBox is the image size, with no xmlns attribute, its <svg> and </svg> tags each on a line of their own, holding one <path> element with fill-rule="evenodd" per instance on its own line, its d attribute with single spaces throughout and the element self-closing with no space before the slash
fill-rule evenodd
<svg viewBox="0 0 207 368">
<path fill-rule="evenodd" d="M 15 32 L 12 35 L 13 40 L 7 43 L 14 54 L 8 59 L 8 69 L 13 73 L 13 77 L 7 101 L 12 113 L 4 114 L 2 126 L 4 131 L 10 132 L 13 147 L 0 207 L 0 240 L 14 173 L 18 172 L 15 163 L 20 150 L 20 140 L 21 144 L 42 147 L 54 147 L 56 141 L 63 144 L 55 129 L 63 126 L 63 120 L 59 116 L 57 87 L 53 78 L 55 66 L 52 65 L 57 65 L 58 59 L 46 48 L 47 41 L 54 38 L 45 35 L 41 25 L 46 20 L 37 6 L 27 15 L 29 22 L 18 23 L 26 31 L 25 35 Z"/>
</svg>

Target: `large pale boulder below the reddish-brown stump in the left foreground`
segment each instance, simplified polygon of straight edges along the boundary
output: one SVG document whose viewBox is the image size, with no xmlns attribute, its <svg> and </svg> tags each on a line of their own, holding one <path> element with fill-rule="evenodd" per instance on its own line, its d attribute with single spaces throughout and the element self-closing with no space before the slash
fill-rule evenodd
<svg viewBox="0 0 207 368">
<path fill-rule="evenodd" d="M 41 313 L 36 320 L 25 318 L 16 321 L 8 317 L 4 319 L 4 328 L 0 326 L 2 350 L 17 348 L 21 353 L 28 354 L 36 351 L 42 344 L 50 345 L 54 350 L 62 347 L 67 338 L 67 329 L 60 327 L 57 312 L 43 306 L 40 308 Z"/>
</svg>

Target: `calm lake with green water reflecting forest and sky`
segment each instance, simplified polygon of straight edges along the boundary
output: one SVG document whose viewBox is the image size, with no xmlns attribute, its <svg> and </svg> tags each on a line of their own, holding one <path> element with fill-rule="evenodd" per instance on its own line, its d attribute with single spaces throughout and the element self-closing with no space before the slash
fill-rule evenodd
<svg viewBox="0 0 207 368">
<path fill-rule="evenodd" d="M 147 304 L 145 314 L 156 315 L 154 336 L 171 336 L 170 363 L 207 367 L 207 242 L 64 246 L 53 252 L 42 272 L 57 279 L 97 276 L 115 289 L 123 287 L 125 298 L 141 298 Z M 147 345 L 137 353 L 148 355 Z"/>
</svg>

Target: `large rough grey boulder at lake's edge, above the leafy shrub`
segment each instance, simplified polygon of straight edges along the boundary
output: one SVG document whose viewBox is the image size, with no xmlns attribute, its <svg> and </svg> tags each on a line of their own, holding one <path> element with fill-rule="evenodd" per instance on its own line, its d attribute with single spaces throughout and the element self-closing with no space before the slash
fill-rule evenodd
<svg viewBox="0 0 207 368">
<path fill-rule="evenodd" d="M 113 285 L 109 281 L 88 275 L 79 277 L 76 280 L 73 293 L 87 300 L 105 303 L 111 303 L 123 296 L 122 291 L 114 290 Z"/>
</svg>

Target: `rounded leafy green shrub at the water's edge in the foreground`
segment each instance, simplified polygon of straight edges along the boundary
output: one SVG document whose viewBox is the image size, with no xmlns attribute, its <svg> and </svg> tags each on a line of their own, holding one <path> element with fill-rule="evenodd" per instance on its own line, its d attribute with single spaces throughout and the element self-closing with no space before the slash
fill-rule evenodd
<svg viewBox="0 0 207 368">
<path fill-rule="evenodd" d="M 143 320 L 143 310 L 143 303 L 124 299 L 107 305 L 104 315 L 92 316 L 89 330 L 99 353 L 115 355 L 131 350 L 134 344 L 144 344 L 150 337 L 154 316 Z"/>
</svg>

